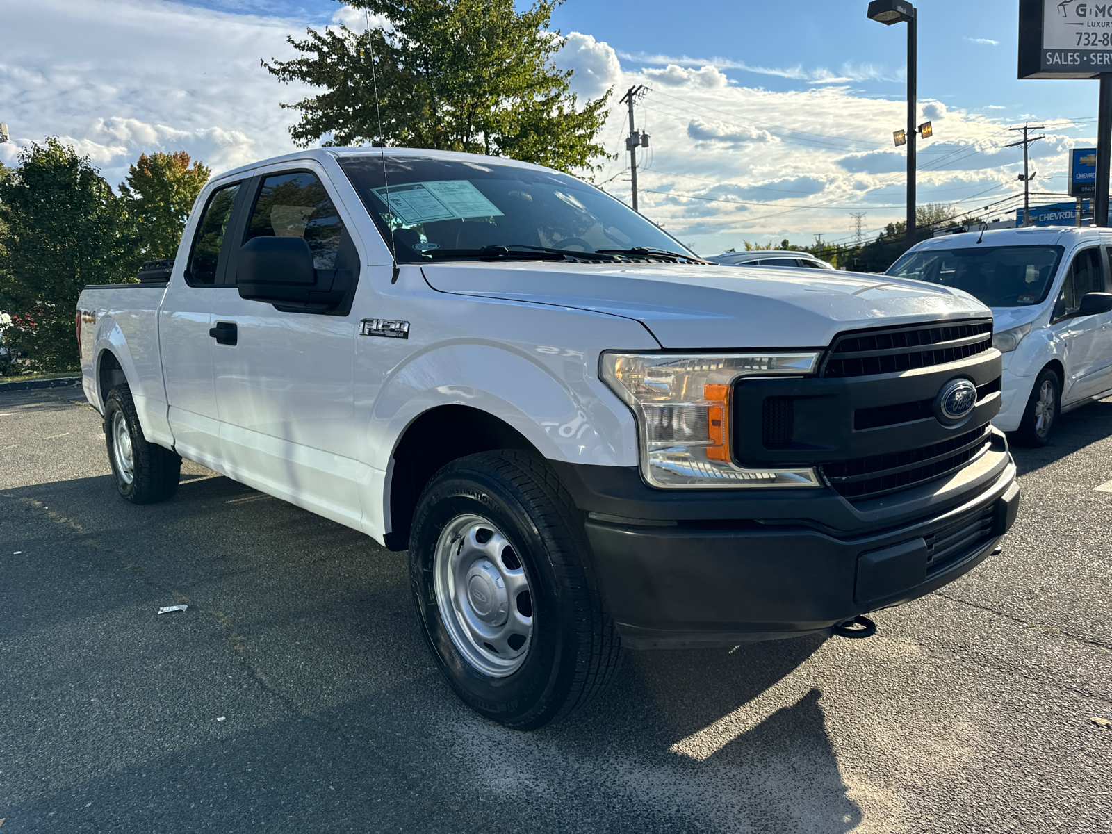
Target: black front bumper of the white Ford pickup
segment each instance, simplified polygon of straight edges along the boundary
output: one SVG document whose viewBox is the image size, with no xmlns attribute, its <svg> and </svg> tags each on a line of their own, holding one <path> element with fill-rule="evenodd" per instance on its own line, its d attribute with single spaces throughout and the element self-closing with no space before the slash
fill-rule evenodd
<svg viewBox="0 0 1112 834">
<path fill-rule="evenodd" d="M 747 497 L 749 513 L 741 507 L 746 496 L 738 496 L 738 505 L 718 514 L 725 517 L 698 519 L 682 517 L 691 514 L 689 498 L 676 512 L 667 495 L 646 487 L 636 517 L 622 518 L 592 508 L 613 508 L 613 496 L 593 497 L 582 478 L 572 479 L 573 496 L 588 513 L 587 536 L 607 604 L 634 648 L 828 632 L 858 614 L 915 599 L 989 557 L 1015 520 L 1020 493 L 1006 448 L 979 468 L 921 489 L 913 498 L 927 512 L 913 519 L 905 516 L 914 502 L 893 516 L 876 507 L 860 512 L 832 490 L 816 490 L 844 505 L 818 514 L 846 522 L 838 525 L 843 529 L 806 515 L 788 517 L 787 490 L 764 506 L 777 517 L 761 518 L 762 500 L 754 494 Z M 628 484 L 626 490 L 636 492 Z M 946 496 L 945 506 L 939 496 Z"/>
</svg>

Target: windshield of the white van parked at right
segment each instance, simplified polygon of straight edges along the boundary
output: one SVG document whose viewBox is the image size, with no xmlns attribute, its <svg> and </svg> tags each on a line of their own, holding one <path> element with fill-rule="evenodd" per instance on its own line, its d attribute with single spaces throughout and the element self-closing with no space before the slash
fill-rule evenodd
<svg viewBox="0 0 1112 834">
<path fill-rule="evenodd" d="M 1061 257 L 1061 246 L 921 249 L 885 275 L 963 289 L 989 307 L 1024 307 L 1046 298 Z"/>
</svg>

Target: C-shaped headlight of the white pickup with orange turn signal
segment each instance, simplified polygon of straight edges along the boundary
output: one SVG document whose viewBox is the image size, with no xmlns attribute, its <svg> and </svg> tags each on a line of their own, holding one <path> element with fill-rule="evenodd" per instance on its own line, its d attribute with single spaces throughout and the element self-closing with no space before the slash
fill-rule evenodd
<svg viewBox="0 0 1112 834">
<path fill-rule="evenodd" d="M 817 487 L 814 469 L 749 469 L 731 451 L 734 383 L 811 374 L 820 354 L 603 354 L 602 377 L 633 409 L 645 480 L 653 486 Z"/>
</svg>

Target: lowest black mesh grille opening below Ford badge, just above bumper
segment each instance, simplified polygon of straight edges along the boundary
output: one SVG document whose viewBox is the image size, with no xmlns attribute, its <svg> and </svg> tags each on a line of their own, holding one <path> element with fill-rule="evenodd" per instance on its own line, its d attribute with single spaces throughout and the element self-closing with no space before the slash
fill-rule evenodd
<svg viewBox="0 0 1112 834">
<path fill-rule="evenodd" d="M 930 446 L 825 464 L 822 469 L 838 494 L 863 500 L 909 489 L 960 469 L 979 457 L 990 441 L 991 429 L 985 424 Z"/>
</svg>

